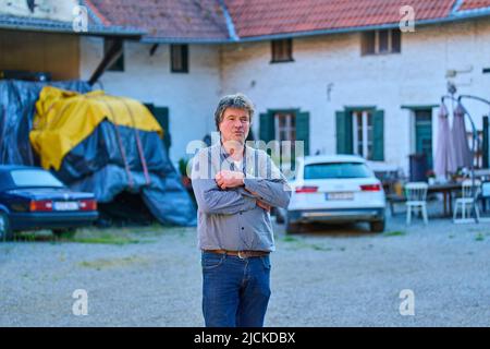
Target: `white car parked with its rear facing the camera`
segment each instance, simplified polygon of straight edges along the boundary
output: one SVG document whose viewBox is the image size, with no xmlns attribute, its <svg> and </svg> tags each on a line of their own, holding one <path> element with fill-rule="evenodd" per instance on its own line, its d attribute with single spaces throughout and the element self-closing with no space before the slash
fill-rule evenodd
<svg viewBox="0 0 490 349">
<path fill-rule="evenodd" d="M 365 159 L 352 155 L 309 156 L 296 160 L 296 178 L 285 217 L 286 232 L 310 221 L 368 221 L 384 230 L 385 195 Z"/>
</svg>

